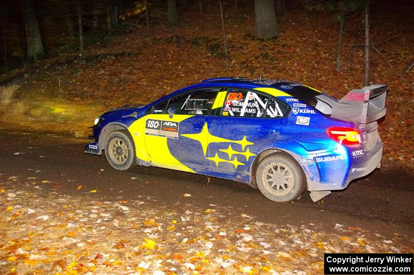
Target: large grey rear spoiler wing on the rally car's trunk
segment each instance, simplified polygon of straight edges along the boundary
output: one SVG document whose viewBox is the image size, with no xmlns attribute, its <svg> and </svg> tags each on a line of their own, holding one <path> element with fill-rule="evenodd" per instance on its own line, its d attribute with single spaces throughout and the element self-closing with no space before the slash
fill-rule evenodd
<svg viewBox="0 0 414 275">
<path fill-rule="evenodd" d="M 376 84 L 348 92 L 341 100 L 331 101 L 332 118 L 368 124 L 383 117 L 387 111 L 385 97 L 388 85 Z"/>
</svg>

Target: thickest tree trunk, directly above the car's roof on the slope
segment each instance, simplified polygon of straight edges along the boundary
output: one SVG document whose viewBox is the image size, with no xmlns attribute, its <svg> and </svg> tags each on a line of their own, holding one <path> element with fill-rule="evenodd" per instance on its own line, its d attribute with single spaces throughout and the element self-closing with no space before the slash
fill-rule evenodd
<svg viewBox="0 0 414 275">
<path fill-rule="evenodd" d="M 256 34 L 262 38 L 278 36 L 279 30 L 273 0 L 255 0 L 254 11 L 256 15 L 254 27 Z"/>
</svg>

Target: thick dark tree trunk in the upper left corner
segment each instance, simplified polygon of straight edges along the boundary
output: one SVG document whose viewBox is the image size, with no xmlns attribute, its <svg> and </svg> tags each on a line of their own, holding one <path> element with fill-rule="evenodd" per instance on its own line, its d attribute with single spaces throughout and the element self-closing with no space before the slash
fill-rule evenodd
<svg viewBox="0 0 414 275">
<path fill-rule="evenodd" d="M 27 59 L 38 61 L 44 55 L 44 51 L 33 0 L 23 0 L 23 18 L 26 31 Z"/>
</svg>

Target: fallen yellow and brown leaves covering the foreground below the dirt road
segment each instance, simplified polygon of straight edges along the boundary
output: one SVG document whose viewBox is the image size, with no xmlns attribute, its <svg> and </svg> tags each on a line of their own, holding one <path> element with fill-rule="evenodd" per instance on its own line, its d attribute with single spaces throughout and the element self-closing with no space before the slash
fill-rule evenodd
<svg viewBox="0 0 414 275">
<path fill-rule="evenodd" d="M 322 272 L 326 252 L 413 253 L 414 247 L 401 235 L 388 239 L 340 224 L 328 232 L 318 223 L 265 223 L 216 205 L 102 201 L 45 192 L 24 180 L 9 179 L 2 188 L 5 273 L 305 274 Z M 8 194 L 15 194 L 13 201 Z"/>
</svg>

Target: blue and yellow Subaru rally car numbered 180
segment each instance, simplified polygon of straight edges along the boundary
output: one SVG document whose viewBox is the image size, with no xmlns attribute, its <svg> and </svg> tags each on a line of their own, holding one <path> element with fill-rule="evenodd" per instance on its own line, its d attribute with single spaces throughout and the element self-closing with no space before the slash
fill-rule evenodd
<svg viewBox="0 0 414 275">
<path fill-rule="evenodd" d="M 284 80 L 213 78 L 149 105 L 95 119 L 85 152 L 115 169 L 158 166 L 250 183 L 288 202 L 305 188 L 313 201 L 380 167 L 377 120 L 386 85 L 341 100 Z"/>
</svg>

